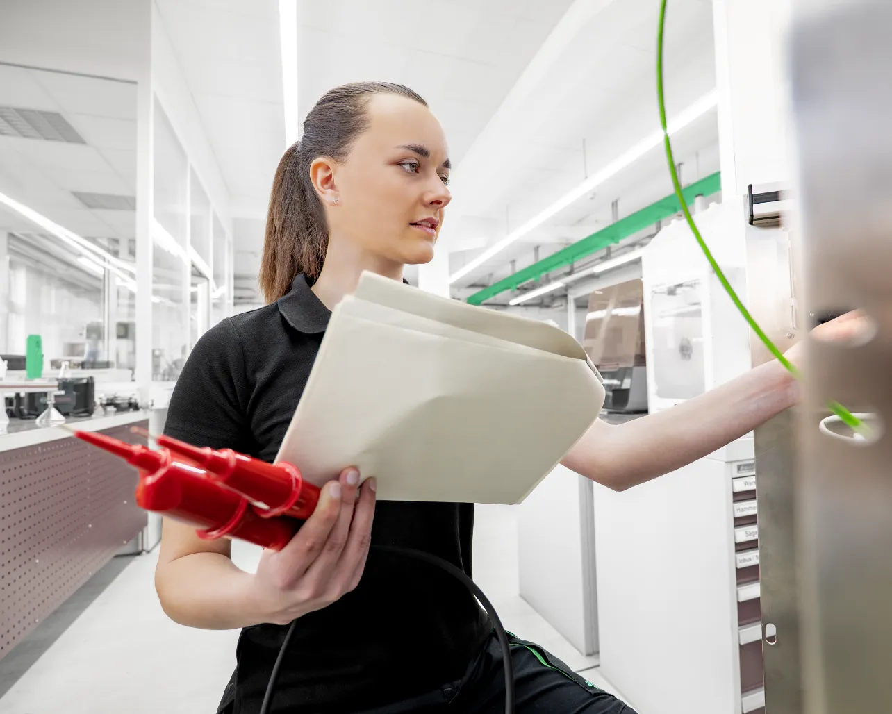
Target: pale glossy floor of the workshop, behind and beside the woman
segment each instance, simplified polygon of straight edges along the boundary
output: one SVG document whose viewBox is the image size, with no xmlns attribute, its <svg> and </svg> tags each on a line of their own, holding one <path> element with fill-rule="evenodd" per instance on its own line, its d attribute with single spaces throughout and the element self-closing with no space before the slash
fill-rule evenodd
<svg viewBox="0 0 892 714">
<path fill-rule="evenodd" d="M 533 640 L 608 692 L 597 657 L 585 657 L 517 594 L 516 512 L 477 506 L 475 579 L 505 627 Z M 259 550 L 235 544 L 251 570 Z M 235 663 L 237 631 L 181 627 L 153 588 L 157 548 L 120 556 L 68 607 L 0 661 L 4 714 L 200 714 L 212 712 Z M 78 603 L 81 609 L 78 610 Z M 616 693 L 618 696 L 621 694 Z"/>
</svg>

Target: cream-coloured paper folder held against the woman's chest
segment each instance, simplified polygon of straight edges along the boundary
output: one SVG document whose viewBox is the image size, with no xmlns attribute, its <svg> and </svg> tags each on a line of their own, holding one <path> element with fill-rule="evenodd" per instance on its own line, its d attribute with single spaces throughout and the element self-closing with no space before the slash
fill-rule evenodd
<svg viewBox="0 0 892 714">
<path fill-rule="evenodd" d="M 557 327 L 364 273 L 276 460 L 318 486 L 357 466 L 383 500 L 518 504 L 603 404 L 598 371 Z"/>
</svg>

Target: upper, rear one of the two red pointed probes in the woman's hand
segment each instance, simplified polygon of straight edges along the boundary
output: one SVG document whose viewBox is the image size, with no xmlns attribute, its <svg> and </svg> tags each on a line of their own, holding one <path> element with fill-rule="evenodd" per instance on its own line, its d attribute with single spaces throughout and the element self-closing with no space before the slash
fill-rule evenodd
<svg viewBox="0 0 892 714">
<path fill-rule="evenodd" d="M 194 447 L 161 435 L 158 445 L 199 466 L 208 476 L 258 505 L 264 518 L 291 516 L 305 521 L 316 510 L 319 488 L 301 477 L 292 464 L 268 464 L 231 448 Z"/>
</svg>

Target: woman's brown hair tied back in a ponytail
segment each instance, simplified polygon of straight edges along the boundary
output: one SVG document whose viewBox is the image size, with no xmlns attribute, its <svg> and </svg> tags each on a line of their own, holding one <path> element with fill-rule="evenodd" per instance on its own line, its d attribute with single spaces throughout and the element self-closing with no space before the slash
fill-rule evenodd
<svg viewBox="0 0 892 714">
<path fill-rule="evenodd" d="M 347 158 L 353 141 L 368 127 L 366 107 L 373 94 L 401 94 L 427 106 L 408 86 L 355 82 L 326 92 L 310 110 L 301 140 L 279 161 L 269 194 L 260 260 L 260 289 L 268 302 L 290 291 L 296 275 L 318 278 L 328 248 L 328 226 L 310 181 L 310 164 L 320 156 Z"/>
</svg>

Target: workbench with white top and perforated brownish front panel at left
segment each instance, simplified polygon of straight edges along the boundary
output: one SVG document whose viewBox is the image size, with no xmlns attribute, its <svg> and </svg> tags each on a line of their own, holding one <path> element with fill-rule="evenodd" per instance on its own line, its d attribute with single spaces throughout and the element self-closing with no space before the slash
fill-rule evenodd
<svg viewBox="0 0 892 714">
<path fill-rule="evenodd" d="M 145 443 L 149 413 L 69 419 L 84 431 Z M 136 470 L 70 432 L 15 421 L 0 436 L 0 660 L 47 615 L 141 538 Z"/>
</svg>

